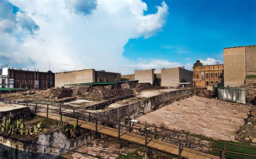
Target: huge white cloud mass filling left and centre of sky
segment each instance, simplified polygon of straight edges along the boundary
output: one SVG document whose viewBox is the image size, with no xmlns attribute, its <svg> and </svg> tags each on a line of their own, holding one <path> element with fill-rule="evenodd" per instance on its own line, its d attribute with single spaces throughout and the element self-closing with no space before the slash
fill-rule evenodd
<svg viewBox="0 0 256 159">
<path fill-rule="evenodd" d="M 26 58 L 24 61 L 30 61 L 30 69 L 47 70 L 49 62 L 56 72 L 95 68 L 132 73 L 134 68 L 181 66 L 167 60 L 132 61 L 123 56 L 129 39 L 150 38 L 161 31 L 169 14 L 165 2 L 151 15 L 144 15 L 147 4 L 141 0 L 91 1 L 91 5 L 97 3 L 95 8 L 80 6 L 82 1 L 10 2 L 21 10 L 15 15 L 17 30 L 28 35 L 4 33 L 9 42 L 2 45 L 8 47 L 0 52 L 4 53 L 2 56 L 10 54 L 11 57 L 15 52 L 21 53 Z M 21 36 L 23 38 L 19 38 Z M 1 63 L 5 64 L 0 60 Z"/>
</svg>

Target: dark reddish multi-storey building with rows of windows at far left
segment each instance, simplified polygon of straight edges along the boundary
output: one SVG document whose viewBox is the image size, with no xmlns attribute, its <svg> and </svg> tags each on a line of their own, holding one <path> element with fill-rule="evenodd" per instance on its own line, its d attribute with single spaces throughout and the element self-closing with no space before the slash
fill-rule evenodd
<svg viewBox="0 0 256 159">
<path fill-rule="evenodd" d="M 39 72 L 8 68 L 4 88 L 48 89 L 54 87 L 54 74 L 51 71 Z M 3 87 L 2 83 L 2 87 Z"/>
</svg>

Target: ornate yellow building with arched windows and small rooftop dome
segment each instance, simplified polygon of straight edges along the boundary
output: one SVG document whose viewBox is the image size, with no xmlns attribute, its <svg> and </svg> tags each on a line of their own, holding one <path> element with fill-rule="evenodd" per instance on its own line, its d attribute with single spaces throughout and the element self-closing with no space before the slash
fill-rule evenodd
<svg viewBox="0 0 256 159">
<path fill-rule="evenodd" d="M 197 60 L 193 66 L 193 86 L 206 87 L 208 85 L 223 84 L 223 64 L 205 65 Z"/>
</svg>

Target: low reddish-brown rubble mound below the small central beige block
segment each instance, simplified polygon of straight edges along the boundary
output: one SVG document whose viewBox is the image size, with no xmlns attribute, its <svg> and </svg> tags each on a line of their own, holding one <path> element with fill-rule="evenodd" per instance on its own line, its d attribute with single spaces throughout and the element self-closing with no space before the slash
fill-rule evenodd
<svg viewBox="0 0 256 159">
<path fill-rule="evenodd" d="M 151 83 L 123 83 L 121 84 L 122 89 L 132 89 L 134 92 L 140 92 L 153 88 Z"/>
</svg>

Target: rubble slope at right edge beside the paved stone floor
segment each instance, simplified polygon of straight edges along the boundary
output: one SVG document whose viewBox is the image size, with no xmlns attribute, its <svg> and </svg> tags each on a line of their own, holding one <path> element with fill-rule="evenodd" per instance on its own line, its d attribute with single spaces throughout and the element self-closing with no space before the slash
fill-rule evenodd
<svg viewBox="0 0 256 159">
<path fill-rule="evenodd" d="M 250 114 L 248 114 L 248 119 L 245 125 L 239 128 L 237 131 L 236 139 L 241 142 L 249 142 L 256 144 L 256 114 L 255 109 L 252 107 Z"/>
</svg>

